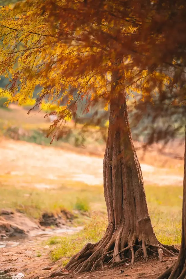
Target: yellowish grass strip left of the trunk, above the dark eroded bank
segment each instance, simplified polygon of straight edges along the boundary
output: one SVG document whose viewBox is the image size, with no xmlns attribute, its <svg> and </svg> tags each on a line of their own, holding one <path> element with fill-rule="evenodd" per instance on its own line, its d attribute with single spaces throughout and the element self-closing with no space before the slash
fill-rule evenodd
<svg viewBox="0 0 186 279">
<path fill-rule="evenodd" d="M 0 179 L 5 179 L 4 177 Z M 19 178 L 20 179 L 20 178 Z M 104 205 L 103 188 L 87 187 L 81 182 L 67 181 L 56 189 L 37 189 L 11 185 L 1 185 L 0 208 L 12 208 L 25 213 L 28 217 L 40 218 L 44 211 L 59 212 L 65 208 L 72 211 L 78 208 L 84 211 L 93 208 L 94 202 Z M 87 202 L 90 202 L 89 203 Z M 85 220 L 83 217 L 82 221 Z"/>
</svg>

